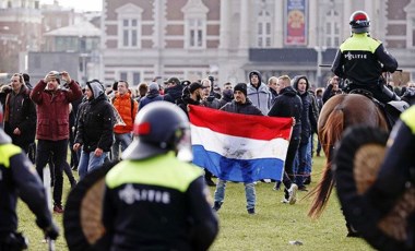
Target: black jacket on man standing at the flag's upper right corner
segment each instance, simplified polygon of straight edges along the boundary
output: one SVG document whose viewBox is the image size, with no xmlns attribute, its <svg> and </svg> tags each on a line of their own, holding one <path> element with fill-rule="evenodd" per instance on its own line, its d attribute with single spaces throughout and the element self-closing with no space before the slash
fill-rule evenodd
<svg viewBox="0 0 415 251">
<path fill-rule="evenodd" d="M 303 103 L 301 98 L 297 95 L 292 86 L 287 86 L 280 91 L 278 96 L 275 98 L 268 116 L 283 117 L 295 119 L 295 125 L 293 128 L 292 139 L 299 139 L 301 133 L 301 111 Z"/>
</svg>

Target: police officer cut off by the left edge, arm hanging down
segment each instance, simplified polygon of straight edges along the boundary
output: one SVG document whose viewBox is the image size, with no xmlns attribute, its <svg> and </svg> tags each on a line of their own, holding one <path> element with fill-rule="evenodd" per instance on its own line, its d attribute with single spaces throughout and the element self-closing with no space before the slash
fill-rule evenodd
<svg viewBox="0 0 415 251">
<path fill-rule="evenodd" d="M 0 106 L 0 120 L 2 121 Z M 36 215 L 37 226 L 45 236 L 55 240 L 59 229 L 47 206 L 43 183 L 25 153 L 13 145 L 0 125 L 0 250 L 14 251 L 27 248 L 25 238 L 16 232 L 17 193 Z"/>
</svg>

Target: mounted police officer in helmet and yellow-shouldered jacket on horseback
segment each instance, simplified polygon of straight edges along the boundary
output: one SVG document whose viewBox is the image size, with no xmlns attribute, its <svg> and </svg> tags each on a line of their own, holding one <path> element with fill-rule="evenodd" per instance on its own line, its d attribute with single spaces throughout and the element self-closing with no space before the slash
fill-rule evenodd
<svg viewBox="0 0 415 251">
<path fill-rule="evenodd" d="M 340 46 L 332 72 L 348 82 L 349 91 L 369 91 L 383 104 L 399 100 L 381 77 L 382 72 L 393 73 L 396 70 L 396 59 L 387 51 L 381 41 L 370 37 L 368 14 L 364 11 L 354 12 L 349 25 L 352 36 Z"/>
</svg>

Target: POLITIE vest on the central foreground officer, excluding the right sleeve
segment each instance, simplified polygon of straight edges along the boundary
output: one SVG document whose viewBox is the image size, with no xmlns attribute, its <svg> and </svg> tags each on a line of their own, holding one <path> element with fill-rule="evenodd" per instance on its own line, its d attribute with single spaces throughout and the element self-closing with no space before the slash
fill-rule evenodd
<svg viewBox="0 0 415 251">
<path fill-rule="evenodd" d="M 112 246 L 191 250 L 189 187 L 202 171 L 173 153 L 115 166 L 106 176 L 103 217 L 112 228 Z"/>
</svg>

